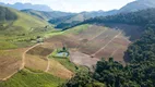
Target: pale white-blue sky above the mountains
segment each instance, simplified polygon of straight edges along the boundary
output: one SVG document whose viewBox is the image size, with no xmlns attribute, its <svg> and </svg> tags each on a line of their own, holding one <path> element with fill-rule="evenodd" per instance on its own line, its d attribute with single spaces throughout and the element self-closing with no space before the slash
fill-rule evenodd
<svg viewBox="0 0 155 87">
<path fill-rule="evenodd" d="M 120 9 L 134 0 L 0 0 L 0 2 L 31 2 L 33 4 L 47 4 L 52 10 L 65 12 L 98 11 Z"/>
</svg>

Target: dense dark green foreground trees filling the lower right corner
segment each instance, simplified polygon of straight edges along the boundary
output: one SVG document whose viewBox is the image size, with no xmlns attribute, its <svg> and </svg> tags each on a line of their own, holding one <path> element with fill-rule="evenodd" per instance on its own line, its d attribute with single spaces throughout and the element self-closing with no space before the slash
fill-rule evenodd
<svg viewBox="0 0 155 87">
<path fill-rule="evenodd" d="M 154 87 L 155 86 L 155 30 L 148 29 L 143 37 L 127 51 L 129 64 L 126 66 L 109 58 L 96 64 L 95 73 L 78 74 L 62 87 Z"/>
</svg>

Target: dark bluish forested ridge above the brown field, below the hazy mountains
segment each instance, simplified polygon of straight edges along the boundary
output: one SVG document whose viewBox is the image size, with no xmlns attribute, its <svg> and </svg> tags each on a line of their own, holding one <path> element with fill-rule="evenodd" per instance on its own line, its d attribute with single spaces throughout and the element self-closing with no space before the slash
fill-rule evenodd
<svg viewBox="0 0 155 87">
<path fill-rule="evenodd" d="M 83 23 L 122 23 L 132 25 L 153 25 L 155 24 L 155 9 L 141 10 L 131 13 L 121 13 L 106 17 L 95 17 Z"/>
</svg>

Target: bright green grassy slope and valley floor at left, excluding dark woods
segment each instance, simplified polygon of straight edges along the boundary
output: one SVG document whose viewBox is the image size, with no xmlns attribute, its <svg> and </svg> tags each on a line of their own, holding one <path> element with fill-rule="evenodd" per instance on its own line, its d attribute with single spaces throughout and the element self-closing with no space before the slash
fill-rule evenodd
<svg viewBox="0 0 155 87">
<path fill-rule="evenodd" d="M 4 7 L 0 7 L 3 9 Z M 12 49 L 33 45 L 31 39 L 36 39 L 37 36 L 44 36 L 51 26 L 46 27 L 48 23 L 35 16 L 31 16 L 14 9 L 7 8 L 11 14 L 15 14 L 17 18 L 0 21 L 0 49 Z"/>
</svg>

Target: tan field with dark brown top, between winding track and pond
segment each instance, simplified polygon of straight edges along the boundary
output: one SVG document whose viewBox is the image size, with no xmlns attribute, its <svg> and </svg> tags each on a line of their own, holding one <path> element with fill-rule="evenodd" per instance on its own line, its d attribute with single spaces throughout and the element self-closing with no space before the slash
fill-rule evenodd
<svg viewBox="0 0 155 87">
<path fill-rule="evenodd" d="M 71 78 L 73 73 L 55 59 L 49 59 L 55 44 L 40 44 L 26 53 L 25 66 L 33 70 L 44 71 L 60 78 Z"/>
</svg>

